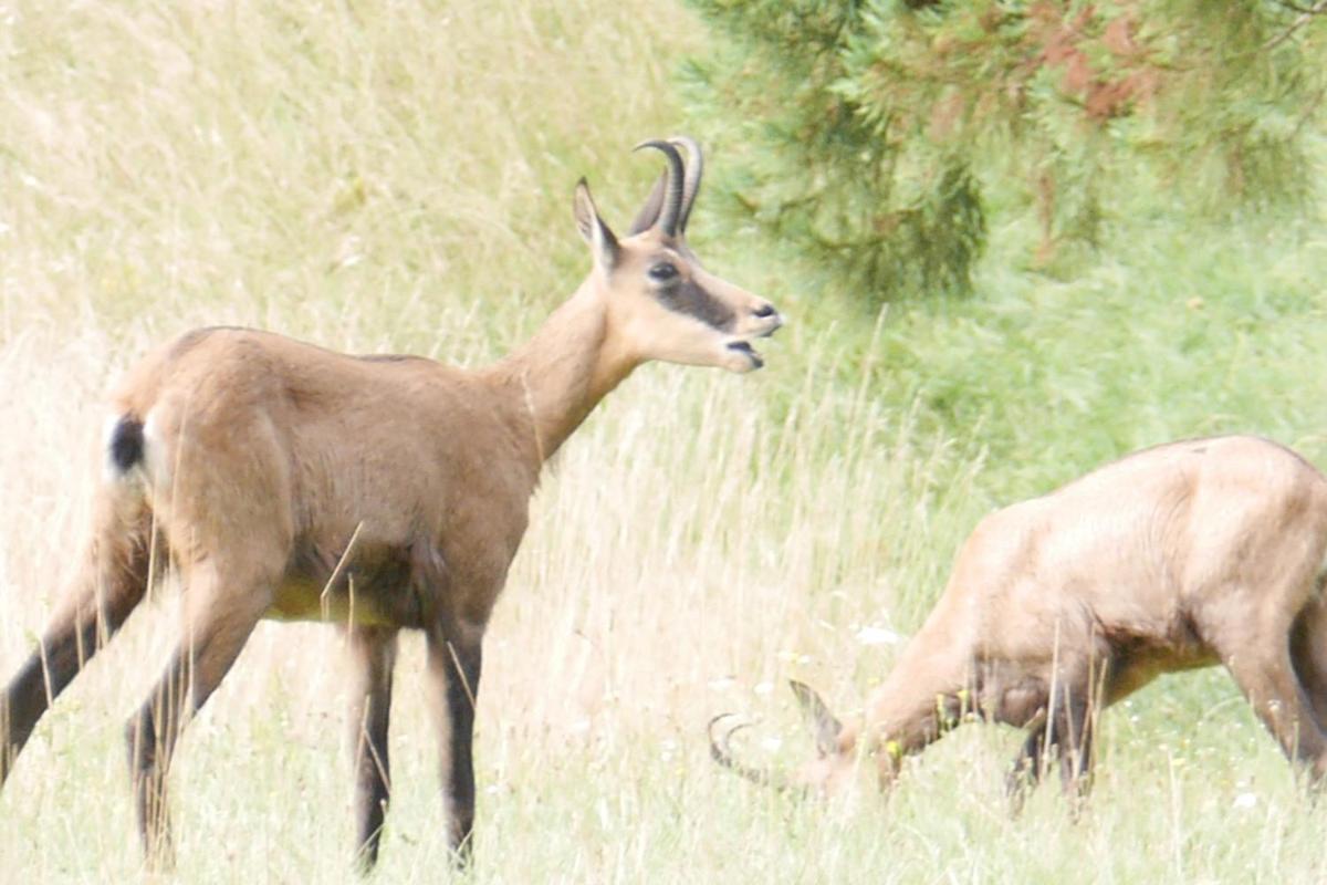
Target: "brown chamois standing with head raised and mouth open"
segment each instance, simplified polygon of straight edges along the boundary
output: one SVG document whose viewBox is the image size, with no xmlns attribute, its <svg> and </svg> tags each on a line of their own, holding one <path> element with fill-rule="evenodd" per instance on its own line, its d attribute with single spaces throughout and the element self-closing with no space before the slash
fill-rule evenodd
<svg viewBox="0 0 1327 885">
<path fill-rule="evenodd" d="M 686 244 L 702 171 L 695 142 L 640 147 L 661 151 L 666 171 L 630 235 L 613 235 L 581 179 L 575 219 L 589 276 L 492 366 L 346 356 L 214 328 L 131 369 L 110 401 L 89 540 L 0 698 L 0 783 L 41 714 L 143 598 L 150 561 L 169 557 L 183 585 L 179 646 L 126 732 L 149 860 L 171 861 L 166 780 L 179 734 L 260 618 L 346 632 L 364 866 L 377 860 L 390 792 L 397 633 L 423 632 L 446 836 L 467 857 L 480 645 L 541 466 L 638 365 L 750 372 L 762 365 L 752 341 L 783 322 Z"/>
</svg>

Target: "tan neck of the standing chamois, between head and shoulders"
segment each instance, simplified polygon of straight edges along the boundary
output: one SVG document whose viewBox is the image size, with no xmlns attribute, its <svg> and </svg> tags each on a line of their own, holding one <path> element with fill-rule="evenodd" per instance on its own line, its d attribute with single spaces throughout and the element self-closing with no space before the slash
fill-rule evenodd
<svg viewBox="0 0 1327 885">
<path fill-rule="evenodd" d="M 529 341 L 488 373 L 516 399 L 515 414 L 528 421 L 543 463 L 638 362 L 613 346 L 605 305 L 593 279 L 587 279 Z"/>
</svg>

